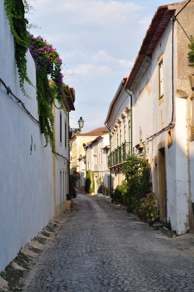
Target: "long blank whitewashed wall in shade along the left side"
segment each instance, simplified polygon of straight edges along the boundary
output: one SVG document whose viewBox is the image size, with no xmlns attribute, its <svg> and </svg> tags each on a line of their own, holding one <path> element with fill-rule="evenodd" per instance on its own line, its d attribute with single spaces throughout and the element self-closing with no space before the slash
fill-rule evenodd
<svg viewBox="0 0 194 292">
<path fill-rule="evenodd" d="M 19 87 L 14 38 L 0 1 L 0 77 L 38 120 L 36 89 L 26 85 L 31 99 Z M 34 61 L 27 52 L 28 76 L 36 85 Z M 51 148 L 21 105 L 0 88 L 0 271 L 20 248 L 53 218 Z M 32 150 L 31 150 L 32 147 Z"/>
</svg>

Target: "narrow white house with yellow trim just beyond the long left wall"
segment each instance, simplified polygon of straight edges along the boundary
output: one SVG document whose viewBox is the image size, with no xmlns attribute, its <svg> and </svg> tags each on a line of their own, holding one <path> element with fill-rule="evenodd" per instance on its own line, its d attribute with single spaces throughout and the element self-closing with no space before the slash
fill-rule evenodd
<svg viewBox="0 0 194 292">
<path fill-rule="evenodd" d="M 55 117 L 55 147 L 57 158 L 53 153 L 53 202 L 54 217 L 60 216 L 66 210 L 67 194 L 69 193 L 69 112 L 75 110 L 75 90 L 66 86 L 69 96 L 63 95 L 65 110 L 59 109 L 60 105 L 55 100 L 56 107 L 53 107 Z"/>
</svg>

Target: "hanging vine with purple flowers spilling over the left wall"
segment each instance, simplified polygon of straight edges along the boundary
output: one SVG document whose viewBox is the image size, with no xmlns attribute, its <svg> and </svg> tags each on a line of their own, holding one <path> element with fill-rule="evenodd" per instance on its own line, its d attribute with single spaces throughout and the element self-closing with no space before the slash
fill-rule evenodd
<svg viewBox="0 0 194 292">
<path fill-rule="evenodd" d="M 69 95 L 70 91 L 63 83 L 61 73 L 62 60 L 51 44 L 48 44 L 41 36 L 34 38 L 29 34 L 30 53 L 36 66 L 38 114 L 41 124 L 41 133 L 44 133 L 46 145 L 50 143 L 55 151 L 54 139 L 54 116 L 52 113 L 55 98 L 58 100 L 60 109 L 64 109 L 63 96 Z M 50 77 L 50 80 L 49 78 Z"/>
</svg>

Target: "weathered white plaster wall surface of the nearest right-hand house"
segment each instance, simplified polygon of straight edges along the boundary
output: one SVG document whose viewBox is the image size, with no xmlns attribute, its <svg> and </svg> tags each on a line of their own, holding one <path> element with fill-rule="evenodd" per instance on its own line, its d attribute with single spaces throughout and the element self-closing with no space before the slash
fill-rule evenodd
<svg viewBox="0 0 194 292">
<path fill-rule="evenodd" d="M 178 234 L 187 231 L 188 227 L 188 161 L 187 161 L 187 129 L 186 100 L 175 99 L 179 71 L 177 68 L 177 24 L 174 27 L 174 109 L 176 125 L 171 132 L 172 145 L 168 148 L 167 130 L 149 139 L 147 154 L 149 162 L 154 165 L 154 157 L 158 156 L 160 145 L 165 151 L 165 171 L 167 181 L 167 218 L 171 219 L 172 229 Z M 186 43 L 185 43 L 186 45 Z M 158 102 L 158 57 L 163 53 L 164 65 L 164 101 Z M 186 62 L 184 60 L 184 62 Z M 179 63 L 178 63 L 179 64 Z M 185 71 L 188 70 L 187 63 Z M 188 71 L 187 71 L 188 72 Z M 177 78 L 178 74 L 178 78 Z M 181 83 L 180 83 L 181 84 Z M 188 85 L 188 84 L 187 84 Z M 184 88 L 184 87 L 183 87 Z M 180 88 L 181 89 L 181 88 Z M 142 129 L 142 141 L 166 127 L 172 119 L 172 22 L 169 22 L 163 36 L 159 40 L 152 55 L 152 63 L 139 88 L 134 93 L 133 133 L 135 146 L 139 142 L 139 127 Z M 183 112 L 184 111 L 184 112 Z M 183 116 L 182 116 L 183 115 Z M 184 120 L 184 122 L 183 122 Z M 177 130 L 176 130 L 177 129 Z M 152 167 L 153 191 L 157 190 L 160 177 Z M 182 173 L 184 173 L 182 175 Z M 160 174 L 159 174 L 160 175 Z"/>
</svg>

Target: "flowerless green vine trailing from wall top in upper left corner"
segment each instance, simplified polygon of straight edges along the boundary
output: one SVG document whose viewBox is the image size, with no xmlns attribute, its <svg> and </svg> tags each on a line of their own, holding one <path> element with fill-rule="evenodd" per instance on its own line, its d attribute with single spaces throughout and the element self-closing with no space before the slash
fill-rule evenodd
<svg viewBox="0 0 194 292">
<path fill-rule="evenodd" d="M 25 18 L 25 12 L 29 11 L 27 1 L 25 5 L 22 0 L 4 0 L 6 15 L 11 28 L 11 33 L 15 38 L 15 60 L 18 67 L 20 88 L 24 95 L 27 95 L 24 89 L 24 81 L 32 85 L 27 77 L 27 60 L 25 54 L 29 48 L 28 32 L 26 26 L 28 20 Z M 26 9 L 26 10 L 25 10 Z"/>
</svg>

